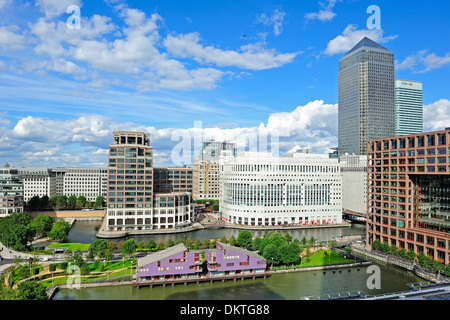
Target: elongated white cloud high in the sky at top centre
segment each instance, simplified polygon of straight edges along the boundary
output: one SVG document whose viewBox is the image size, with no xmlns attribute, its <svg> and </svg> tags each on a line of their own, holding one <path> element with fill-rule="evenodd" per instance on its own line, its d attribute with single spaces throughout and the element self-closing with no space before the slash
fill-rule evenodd
<svg viewBox="0 0 450 320">
<path fill-rule="evenodd" d="M 277 68 L 293 61 L 298 53 L 277 53 L 262 43 L 241 46 L 239 51 L 223 50 L 200 43 L 200 35 L 192 32 L 182 35 L 168 35 L 164 41 L 167 51 L 177 58 L 190 58 L 202 64 L 219 67 L 238 67 L 249 70 Z"/>
</svg>

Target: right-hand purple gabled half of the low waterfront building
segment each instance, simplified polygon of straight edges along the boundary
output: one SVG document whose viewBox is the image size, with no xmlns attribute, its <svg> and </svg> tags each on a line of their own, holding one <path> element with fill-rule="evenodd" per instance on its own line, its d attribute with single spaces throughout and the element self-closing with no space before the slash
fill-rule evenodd
<svg viewBox="0 0 450 320">
<path fill-rule="evenodd" d="M 256 252 L 222 242 L 206 250 L 205 260 L 209 277 L 263 274 L 266 269 L 266 260 Z"/>
</svg>

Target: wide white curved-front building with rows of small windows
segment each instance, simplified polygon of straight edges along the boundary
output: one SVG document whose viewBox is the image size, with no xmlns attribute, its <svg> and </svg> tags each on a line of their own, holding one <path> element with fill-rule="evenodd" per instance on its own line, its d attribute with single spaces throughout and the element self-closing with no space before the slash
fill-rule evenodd
<svg viewBox="0 0 450 320">
<path fill-rule="evenodd" d="M 222 219 L 239 225 L 342 222 L 342 178 L 328 155 L 246 152 L 220 162 Z"/>
</svg>

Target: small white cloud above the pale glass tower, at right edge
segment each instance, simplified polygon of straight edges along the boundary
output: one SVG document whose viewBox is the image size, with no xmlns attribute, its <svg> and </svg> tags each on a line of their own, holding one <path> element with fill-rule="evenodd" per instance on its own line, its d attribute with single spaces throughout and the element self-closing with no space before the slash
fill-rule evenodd
<svg viewBox="0 0 450 320">
<path fill-rule="evenodd" d="M 433 69 L 439 69 L 450 64 L 450 52 L 439 57 L 435 53 L 421 50 L 416 54 L 406 57 L 402 62 L 395 65 L 396 70 L 412 70 L 417 73 L 426 73 Z"/>
</svg>

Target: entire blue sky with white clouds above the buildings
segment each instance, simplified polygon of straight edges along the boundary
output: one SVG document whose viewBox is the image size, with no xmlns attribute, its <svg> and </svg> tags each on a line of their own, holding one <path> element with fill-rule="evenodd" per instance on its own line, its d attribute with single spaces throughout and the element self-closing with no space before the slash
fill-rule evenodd
<svg viewBox="0 0 450 320">
<path fill-rule="evenodd" d="M 115 130 L 149 132 L 155 166 L 189 166 L 211 139 L 327 153 L 339 60 L 364 36 L 395 54 L 397 79 L 423 83 L 424 131 L 449 127 L 449 11 L 447 0 L 0 0 L 0 166 L 106 167 Z"/>
</svg>

